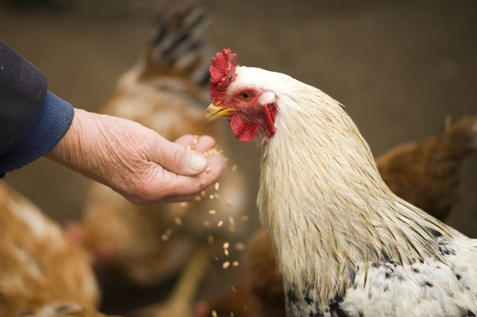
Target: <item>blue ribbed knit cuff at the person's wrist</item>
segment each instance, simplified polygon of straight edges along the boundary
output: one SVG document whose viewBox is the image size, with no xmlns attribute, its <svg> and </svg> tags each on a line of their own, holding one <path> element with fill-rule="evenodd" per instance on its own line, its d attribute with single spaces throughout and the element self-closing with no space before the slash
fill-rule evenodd
<svg viewBox="0 0 477 317">
<path fill-rule="evenodd" d="M 0 154 L 0 178 L 48 153 L 73 122 L 73 106 L 47 91 L 30 124 Z"/>
</svg>

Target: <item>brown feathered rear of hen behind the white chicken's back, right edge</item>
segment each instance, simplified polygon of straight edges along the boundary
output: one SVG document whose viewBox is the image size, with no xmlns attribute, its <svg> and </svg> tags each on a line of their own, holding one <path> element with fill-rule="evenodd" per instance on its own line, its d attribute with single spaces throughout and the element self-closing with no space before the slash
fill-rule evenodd
<svg viewBox="0 0 477 317">
<path fill-rule="evenodd" d="M 460 167 L 477 152 L 477 117 L 441 134 L 394 148 L 376 159 L 386 184 L 399 197 L 443 220 L 460 198 Z"/>
</svg>

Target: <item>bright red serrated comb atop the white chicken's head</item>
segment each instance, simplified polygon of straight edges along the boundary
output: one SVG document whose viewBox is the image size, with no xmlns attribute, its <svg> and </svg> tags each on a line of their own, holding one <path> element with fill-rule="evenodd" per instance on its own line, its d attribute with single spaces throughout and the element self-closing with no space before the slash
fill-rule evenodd
<svg viewBox="0 0 477 317">
<path fill-rule="evenodd" d="M 213 66 L 210 66 L 210 99 L 217 102 L 225 99 L 225 89 L 237 77 L 235 73 L 235 64 L 237 63 L 237 54 L 232 54 L 229 49 L 218 52 L 212 58 Z"/>
</svg>

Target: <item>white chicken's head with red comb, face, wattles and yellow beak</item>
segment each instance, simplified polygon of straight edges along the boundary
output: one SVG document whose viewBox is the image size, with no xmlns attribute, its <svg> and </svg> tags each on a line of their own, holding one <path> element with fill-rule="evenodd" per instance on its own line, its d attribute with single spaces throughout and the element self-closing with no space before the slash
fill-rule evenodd
<svg viewBox="0 0 477 317">
<path fill-rule="evenodd" d="M 237 54 L 232 54 L 228 49 L 218 52 L 216 57 L 212 58 L 213 65 L 209 69 L 212 103 L 207 108 L 206 119 L 211 121 L 226 117 L 232 132 L 241 142 L 251 141 L 260 129 L 271 138 L 276 132 L 274 123 L 277 97 L 257 80 L 260 79 L 262 69 L 236 69 L 236 62 Z M 253 69 L 254 73 L 258 74 L 248 72 L 249 74 L 241 75 L 240 73 L 245 73 L 245 69 Z"/>
</svg>

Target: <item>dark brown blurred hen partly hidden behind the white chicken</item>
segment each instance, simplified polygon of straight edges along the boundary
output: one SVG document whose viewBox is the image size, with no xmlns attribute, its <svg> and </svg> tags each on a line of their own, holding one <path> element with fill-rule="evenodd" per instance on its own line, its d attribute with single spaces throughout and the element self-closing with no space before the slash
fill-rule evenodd
<svg viewBox="0 0 477 317">
<path fill-rule="evenodd" d="M 471 117 L 446 126 L 437 136 L 399 145 L 376 158 L 376 163 L 396 195 L 444 220 L 460 198 L 460 167 L 476 151 L 477 117 Z M 257 230 L 250 238 L 242 262 L 237 292 L 211 301 L 210 309 L 218 316 L 233 312 L 235 317 L 284 317 L 281 274 L 266 229 Z"/>
</svg>

